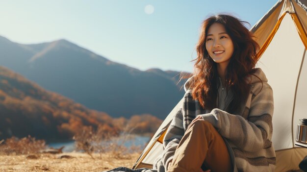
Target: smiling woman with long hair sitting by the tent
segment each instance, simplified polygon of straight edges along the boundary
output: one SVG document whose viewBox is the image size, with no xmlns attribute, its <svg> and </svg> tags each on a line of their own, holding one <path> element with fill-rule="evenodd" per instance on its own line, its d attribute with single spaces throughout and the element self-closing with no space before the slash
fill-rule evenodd
<svg viewBox="0 0 307 172">
<path fill-rule="evenodd" d="M 256 68 L 257 43 L 235 17 L 207 18 L 194 75 L 165 137 L 167 172 L 273 172 L 273 91 Z M 202 167 L 202 168 L 201 168 Z"/>
</svg>

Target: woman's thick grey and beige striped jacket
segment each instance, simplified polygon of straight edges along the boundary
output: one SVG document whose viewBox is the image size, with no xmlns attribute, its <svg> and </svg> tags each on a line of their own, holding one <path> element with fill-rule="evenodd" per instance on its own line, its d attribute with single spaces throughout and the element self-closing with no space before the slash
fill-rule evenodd
<svg viewBox="0 0 307 172">
<path fill-rule="evenodd" d="M 260 68 L 255 75 L 246 78 L 251 85 L 250 94 L 241 104 L 237 114 L 230 114 L 216 108 L 203 109 L 191 96 L 189 80 L 185 83 L 184 101 L 174 116 L 163 140 L 164 151 L 153 165 L 158 172 L 166 172 L 168 163 L 173 159 L 175 150 L 188 125 L 201 115 L 210 122 L 229 146 L 234 159 L 234 171 L 238 172 L 273 172 L 275 169 L 275 150 L 272 139 L 272 115 L 274 109 L 273 91 Z M 226 98 L 225 103 L 231 101 Z M 225 107 L 226 108 L 226 107 Z"/>
</svg>

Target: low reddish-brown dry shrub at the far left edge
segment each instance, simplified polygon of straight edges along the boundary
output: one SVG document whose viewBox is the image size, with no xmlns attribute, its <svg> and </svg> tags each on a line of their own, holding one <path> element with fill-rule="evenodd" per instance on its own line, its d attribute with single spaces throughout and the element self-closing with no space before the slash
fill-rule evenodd
<svg viewBox="0 0 307 172">
<path fill-rule="evenodd" d="M 44 148 L 46 148 L 46 142 L 44 140 L 36 140 L 30 135 L 22 139 L 13 136 L 6 139 L 3 144 L 0 145 L 0 153 L 5 153 L 7 155 L 39 153 L 39 151 Z"/>
</svg>

